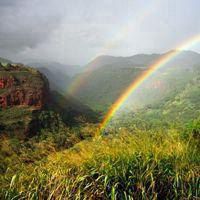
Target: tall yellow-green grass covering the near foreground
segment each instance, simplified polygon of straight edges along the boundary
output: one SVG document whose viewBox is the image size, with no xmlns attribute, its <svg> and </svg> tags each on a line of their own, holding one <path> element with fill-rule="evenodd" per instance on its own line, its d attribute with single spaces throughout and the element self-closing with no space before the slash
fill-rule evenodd
<svg viewBox="0 0 200 200">
<path fill-rule="evenodd" d="M 1 178 L 3 199 L 195 199 L 198 141 L 140 132 L 95 137 Z M 9 173 L 9 171 L 8 171 Z M 8 178 L 9 177 L 9 178 Z"/>
</svg>

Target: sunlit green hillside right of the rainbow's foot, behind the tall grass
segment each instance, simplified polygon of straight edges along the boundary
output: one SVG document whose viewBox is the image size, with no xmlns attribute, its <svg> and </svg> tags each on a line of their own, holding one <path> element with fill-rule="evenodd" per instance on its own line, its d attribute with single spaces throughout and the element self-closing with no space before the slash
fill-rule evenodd
<svg viewBox="0 0 200 200">
<path fill-rule="evenodd" d="M 108 130 L 124 127 L 128 129 L 154 129 L 171 126 L 183 127 L 200 116 L 200 71 L 193 74 L 185 86 L 169 93 L 167 97 L 137 110 L 128 109 L 126 105 L 119 115 L 109 124 Z"/>
</svg>

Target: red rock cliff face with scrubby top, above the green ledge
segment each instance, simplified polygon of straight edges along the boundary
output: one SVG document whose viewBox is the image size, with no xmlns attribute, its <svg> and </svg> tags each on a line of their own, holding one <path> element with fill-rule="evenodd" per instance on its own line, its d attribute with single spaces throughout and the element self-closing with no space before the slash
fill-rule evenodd
<svg viewBox="0 0 200 200">
<path fill-rule="evenodd" d="M 0 64 L 1 108 L 21 105 L 41 109 L 48 96 L 48 81 L 41 73 L 22 65 Z"/>
</svg>

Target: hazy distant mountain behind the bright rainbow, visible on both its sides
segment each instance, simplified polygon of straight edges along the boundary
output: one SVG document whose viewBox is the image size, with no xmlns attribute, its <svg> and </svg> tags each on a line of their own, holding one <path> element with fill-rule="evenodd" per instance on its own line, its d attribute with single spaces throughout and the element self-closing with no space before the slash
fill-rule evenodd
<svg viewBox="0 0 200 200">
<path fill-rule="evenodd" d="M 86 77 L 81 89 L 74 95 L 94 109 L 106 110 L 136 77 L 164 55 L 138 54 L 131 57 L 97 57 L 86 66 L 84 73 L 74 77 L 74 79 L 79 76 Z M 182 87 L 191 80 L 195 73 L 194 70 L 199 67 L 200 54 L 192 51 L 182 52 L 166 67 L 158 71 L 157 80 L 152 79 L 146 83 L 149 103 L 167 96 L 173 90 L 174 85 L 176 85 L 176 89 Z M 140 101 L 141 104 L 147 103 L 142 101 Z"/>
</svg>

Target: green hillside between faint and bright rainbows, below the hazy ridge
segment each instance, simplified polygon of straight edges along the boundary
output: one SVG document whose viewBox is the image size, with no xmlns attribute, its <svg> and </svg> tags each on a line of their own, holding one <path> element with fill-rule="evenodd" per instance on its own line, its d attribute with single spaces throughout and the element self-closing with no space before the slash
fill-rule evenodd
<svg viewBox="0 0 200 200">
<path fill-rule="evenodd" d="M 94 109 L 105 110 L 139 73 L 141 70 L 137 68 L 102 67 L 95 70 L 89 77 L 86 75 L 83 87 L 74 95 L 81 102 Z"/>
</svg>

